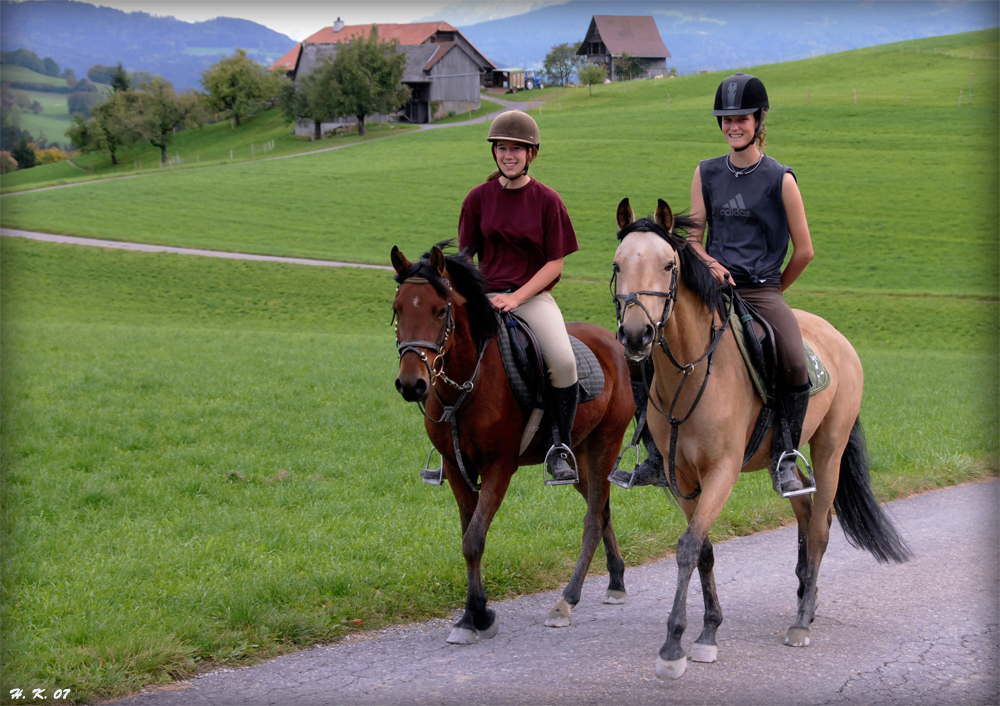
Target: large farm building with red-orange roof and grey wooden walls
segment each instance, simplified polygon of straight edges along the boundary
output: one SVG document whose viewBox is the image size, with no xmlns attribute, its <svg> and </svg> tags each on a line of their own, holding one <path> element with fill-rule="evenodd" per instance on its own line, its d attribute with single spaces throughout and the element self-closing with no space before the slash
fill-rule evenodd
<svg viewBox="0 0 1000 706">
<path fill-rule="evenodd" d="M 330 27 L 307 37 L 272 68 L 282 68 L 298 82 L 324 59 L 336 56 L 341 42 L 366 37 L 371 25 L 345 25 L 337 18 Z M 457 29 L 447 22 L 380 24 L 383 41 L 395 39 L 397 51 L 406 54 L 403 83 L 410 88 L 410 102 L 396 115 L 376 120 L 429 123 L 452 113 L 476 110 L 479 92 L 492 77 L 495 66 Z M 350 116 L 324 123 L 324 132 L 355 122 Z M 296 121 L 296 134 L 313 134 L 312 121 Z"/>
</svg>

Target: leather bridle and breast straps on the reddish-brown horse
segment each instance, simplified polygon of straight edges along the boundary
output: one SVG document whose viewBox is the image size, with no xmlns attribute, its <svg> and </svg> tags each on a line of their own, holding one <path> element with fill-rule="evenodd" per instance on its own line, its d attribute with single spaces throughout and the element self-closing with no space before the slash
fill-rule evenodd
<svg viewBox="0 0 1000 706">
<path fill-rule="evenodd" d="M 418 402 L 417 406 L 420 408 L 420 413 L 424 415 L 428 421 L 434 424 L 441 424 L 443 422 L 448 422 L 451 427 L 451 443 L 455 451 L 455 463 L 458 466 L 458 470 L 462 474 L 462 478 L 465 479 L 466 485 L 473 492 L 479 492 L 480 484 L 472 480 L 472 474 L 466 470 L 465 462 L 462 458 L 462 449 L 458 442 L 458 417 L 456 412 L 462 404 L 468 399 L 469 395 L 476 387 L 476 379 L 479 377 L 479 368 L 483 363 L 483 356 L 486 354 L 486 348 L 489 346 L 492 340 L 491 336 L 486 336 L 479 344 L 479 357 L 476 360 L 476 367 L 472 371 L 472 377 L 463 383 L 457 383 L 452 380 L 444 372 L 444 356 L 448 352 L 448 339 L 451 334 L 455 331 L 455 317 L 452 311 L 452 300 L 451 300 L 451 283 L 448 280 L 443 280 L 445 286 L 448 288 L 448 308 L 445 310 L 445 318 L 441 323 L 441 331 L 438 333 L 437 341 L 424 341 L 419 339 L 409 339 L 406 341 L 399 340 L 399 327 L 396 326 L 396 350 L 399 351 L 399 359 L 402 361 L 403 356 L 407 353 L 413 353 L 420 358 L 423 364 L 427 367 L 427 374 L 430 376 L 431 387 L 434 388 L 434 395 L 437 397 L 438 402 L 441 403 L 443 409 L 440 418 L 434 419 L 429 414 L 427 414 L 426 405 L 423 402 Z M 411 277 L 404 280 L 401 284 L 431 284 L 431 281 L 422 277 Z M 393 322 L 396 321 L 396 315 L 393 314 Z M 427 354 L 424 353 L 423 348 L 428 348 L 434 351 L 437 356 L 434 358 L 434 362 L 430 363 L 427 360 Z M 455 404 L 448 405 L 445 404 L 444 399 L 441 397 L 441 393 L 438 392 L 436 384 L 438 380 L 442 380 L 447 383 L 452 388 L 458 390 L 458 399 Z M 474 470 L 474 469 L 473 469 Z"/>
</svg>

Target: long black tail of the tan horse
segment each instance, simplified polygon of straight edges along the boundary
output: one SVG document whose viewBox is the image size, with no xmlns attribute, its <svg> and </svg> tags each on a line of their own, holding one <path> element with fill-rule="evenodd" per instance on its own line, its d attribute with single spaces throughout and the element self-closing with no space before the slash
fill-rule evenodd
<svg viewBox="0 0 1000 706">
<path fill-rule="evenodd" d="M 840 460 L 840 482 L 833 507 L 852 546 L 867 549 L 883 564 L 890 561 L 901 564 L 913 558 L 913 552 L 872 493 L 868 476 L 868 445 L 860 417 L 854 422 L 851 438 Z"/>
</svg>

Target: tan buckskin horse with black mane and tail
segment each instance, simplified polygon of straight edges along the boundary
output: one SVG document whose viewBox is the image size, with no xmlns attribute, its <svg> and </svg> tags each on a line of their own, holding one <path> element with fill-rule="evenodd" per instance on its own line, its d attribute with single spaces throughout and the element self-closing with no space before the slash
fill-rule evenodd
<svg viewBox="0 0 1000 706">
<path fill-rule="evenodd" d="M 722 610 L 708 531 L 740 473 L 770 464 L 770 432 L 744 460 L 762 400 L 755 392 L 736 339 L 728 328 L 723 288 L 687 247 L 695 221 L 674 217 L 659 199 L 654 219 L 636 221 L 628 199 L 618 204 L 621 240 L 611 289 L 618 340 L 631 360 L 652 356 L 647 423 L 663 452 L 671 491 L 687 517 L 677 542 L 677 587 L 656 675 L 679 678 L 687 668 L 681 637 L 687 628 L 687 593 L 694 569 L 701 579 L 704 627 L 691 647 L 696 662 L 714 662 Z M 803 339 L 818 354 L 830 384 L 814 394 L 802 431 L 809 443 L 815 495 L 790 498 L 798 523 L 798 615 L 785 644 L 805 647 L 816 615 L 817 579 L 837 510 L 848 541 L 879 561 L 903 562 L 912 554 L 872 494 L 868 454 L 858 413 L 864 386 L 861 361 L 850 342 L 828 322 L 794 310 Z M 801 471 L 800 471 L 801 474 Z"/>
</svg>

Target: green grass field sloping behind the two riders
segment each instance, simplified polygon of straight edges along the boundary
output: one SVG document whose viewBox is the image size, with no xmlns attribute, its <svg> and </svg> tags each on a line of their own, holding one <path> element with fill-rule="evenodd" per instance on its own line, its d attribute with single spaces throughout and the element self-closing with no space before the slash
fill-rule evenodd
<svg viewBox="0 0 1000 706">
<path fill-rule="evenodd" d="M 817 250 L 788 297 L 861 356 L 882 499 L 998 471 L 997 58 L 994 30 L 751 71 Z M 553 92 L 534 111 L 532 173 L 581 242 L 556 290 L 568 319 L 613 326 L 618 200 L 686 208 L 698 160 L 724 151 L 706 107 L 720 78 Z M 217 155 L 250 141 L 252 125 L 225 127 L 187 137 Z M 386 264 L 393 244 L 413 257 L 455 233 L 491 170 L 485 132 L 185 158 L 31 193 L 5 175 L 0 223 Z M 54 174 L 26 170 L 16 188 L 70 178 Z M 0 239 L 0 693 L 92 701 L 462 604 L 454 500 L 420 483 L 422 417 L 392 385 L 393 290 L 386 271 Z M 571 571 L 584 506 L 540 475 L 515 476 L 490 532 L 492 599 Z M 683 530 L 658 491 L 613 489 L 612 505 L 630 564 Z M 791 520 L 748 474 L 713 538 Z"/>
</svg>

